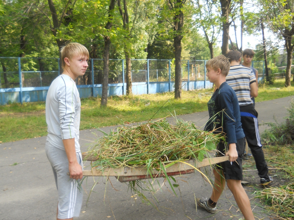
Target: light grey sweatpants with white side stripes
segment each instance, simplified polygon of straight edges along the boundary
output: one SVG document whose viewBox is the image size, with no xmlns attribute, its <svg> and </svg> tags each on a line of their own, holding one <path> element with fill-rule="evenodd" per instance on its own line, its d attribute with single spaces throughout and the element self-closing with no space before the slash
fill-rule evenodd
<svg viewBox="0 0 294 220">
<path fill-rule="evenodd" d="M 51 163 L 58 190 L 58 218 L 78 217 L 83 202 L 83 189 L 80 180 L 69 178 L 69 161 L 65 150 L 49 146 L 46 143 L 46 155 Z M 81 152 L 76 153 L 78 163 L 83 167 Z"/>
</svg>

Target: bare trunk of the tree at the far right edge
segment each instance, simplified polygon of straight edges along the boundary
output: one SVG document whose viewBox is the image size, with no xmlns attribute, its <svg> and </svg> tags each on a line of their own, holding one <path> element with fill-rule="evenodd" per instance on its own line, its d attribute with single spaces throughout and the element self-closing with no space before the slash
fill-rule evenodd
<svg viewBox="0 0 294 220">
<path fill-rule="evenodd" d="M 288 31 L 285 31 L 283 35 L 285 39 L 285 47 L 287 51 L 287 67 L 286 67 L 286 80 L 285 87 L 291 86 L 291 65 L 293 57 L 293 45 L 292 45 L 292 35 Z"/>
</svg>

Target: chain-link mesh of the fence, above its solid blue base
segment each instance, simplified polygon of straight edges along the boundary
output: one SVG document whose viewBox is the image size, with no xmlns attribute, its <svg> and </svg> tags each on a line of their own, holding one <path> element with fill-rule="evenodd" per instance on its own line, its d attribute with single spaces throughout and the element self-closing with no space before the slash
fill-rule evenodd
<svg viewBox="0 0 294 220">
<path fill-rule="evenodd" d="M 0 88 L 48 87 L 59 75 L 58 58 L 0 57 Z M 206 79 L 204 60 L 182 60 L 183 81 Z M 19 70 L 20 64 L 20 70 Z M 85 75 L 76 79 L 77 85 L 102 84 L 103 60 L 90 59 Z M 92 67 L 93 65 L 93 67 Z M 253 66 L 263 76 L 263 61 L 254 61 Z M 20 74 L 20 72 L 21 74 Z M 124 76 L 123 76 L 124 73 Z M 175 79 L 174 60 L 131 60 L 132 82 L 168 82 Z M 206 79 L 207 80 L 207 79 Z M 109 60 L 108 83 L 126 83 L 125 60 Z"/>
</svg>

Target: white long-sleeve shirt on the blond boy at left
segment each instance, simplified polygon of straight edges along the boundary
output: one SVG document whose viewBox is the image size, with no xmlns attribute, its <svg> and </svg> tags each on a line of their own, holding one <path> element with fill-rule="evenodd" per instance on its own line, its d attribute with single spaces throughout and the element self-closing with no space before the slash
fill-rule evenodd
<svg viewBox="0 0 294 220">
<path fill-rule="evenodd" d="M 81 100 L 76 83 L 68 75 L 56 77 L 46 97 L 47 144 L 65 150 L 62 140 L 75 138 L 76 152 L 80 152 L 80 115 Z"/>
</svg>

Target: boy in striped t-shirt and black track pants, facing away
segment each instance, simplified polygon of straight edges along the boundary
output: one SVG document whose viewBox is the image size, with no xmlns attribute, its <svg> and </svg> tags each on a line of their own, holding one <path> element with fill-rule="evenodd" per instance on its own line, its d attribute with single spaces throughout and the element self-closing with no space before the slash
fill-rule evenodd
<svg viewBox="0 0 294 220">
<path fill-rule="evenodd" d="M 238 50 L 230 50 L 226 56 L 231 65 L 226 81 L 237 95 L 245 138 L 255 160 L 260 184 L 265 186 L 272 182 L 273 178 L 268 175 L 268 166 L 260 143 L 258 113 L 255 111 L 251 99 L 251 97 L 257 97 L 258 95 L 256 77 L 249 68 L 240 65 L 241 53 Z"/>
</svg>

